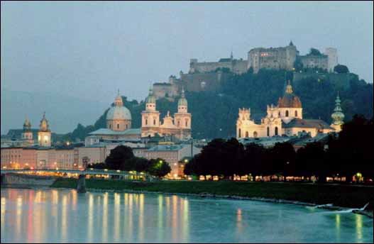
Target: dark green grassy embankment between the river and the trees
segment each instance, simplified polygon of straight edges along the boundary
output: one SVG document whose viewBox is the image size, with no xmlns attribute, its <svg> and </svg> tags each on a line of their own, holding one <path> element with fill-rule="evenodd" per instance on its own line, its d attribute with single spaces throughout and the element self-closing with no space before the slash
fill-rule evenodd
<svg viewBox="0 0 374 244">
<path fill-rule="evenodd" d="M 76 188 L 77 179 L 57 179 L 51 187 Z M 349 185 L 273 183 L 273 182 L 125 182 L 106 179 L 86 179 L 88 189 L 133 190 L 183 194 L 209 193 L 246 197 L 264 197 L 304 201 L 313 204 L 334 204 L 361 208 L 370 202 L 373 210 L 374 187 Z"/>
</svg>

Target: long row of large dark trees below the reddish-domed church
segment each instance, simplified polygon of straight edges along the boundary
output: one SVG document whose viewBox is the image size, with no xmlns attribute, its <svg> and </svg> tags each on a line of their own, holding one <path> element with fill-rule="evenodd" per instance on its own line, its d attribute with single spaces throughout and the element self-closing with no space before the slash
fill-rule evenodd
<svg viewBox="0 0 374 244">
<path fill-rule="evenodd" d="M 326 176 L 339 174 L 347 179 L 360 172 L 374 177 L 374 156 L 370 141 L 373 140 L 373 118 L 354 116 L 343 125 L 338 135 L 329 135 L 324 148 L 321 143 L 309 143 L 295 152 L 290 143 L 276 143 L 273 148 L 264 148 L 255 143 L 243 146 L 235 138 L 212 140 L 195 155 L 187 165 L 185 174 L 223 175 L 233 174 L 282 176 L 317 176 L 321 181 Z"/>
</svg>

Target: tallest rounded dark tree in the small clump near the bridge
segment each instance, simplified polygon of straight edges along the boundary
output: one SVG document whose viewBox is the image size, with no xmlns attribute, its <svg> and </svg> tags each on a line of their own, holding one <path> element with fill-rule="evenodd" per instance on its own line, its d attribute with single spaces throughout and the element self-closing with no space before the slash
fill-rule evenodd
<svg viewBox="0 0 374 244">
<path fill-rule="evenodd" d="M 111 150 L 106 157 L 105 164 L 110 170 L 119 170 L 125 168 L 126 161 L 133 157 L 133 150 L 126 145 L 119 145 Z"/>
</svg>

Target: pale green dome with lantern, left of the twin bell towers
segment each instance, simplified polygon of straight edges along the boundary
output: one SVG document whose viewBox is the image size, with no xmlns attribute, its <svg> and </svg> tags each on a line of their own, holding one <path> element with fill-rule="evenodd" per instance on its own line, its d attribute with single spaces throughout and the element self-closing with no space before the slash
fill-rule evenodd
<svg viewBox="0 0 374 244">
<path fill-rule="evenodd" d="M 119 91 L 114 99 L 114 106 L 106 113 L 106 128 L 113 131 L 125 131 L 131 128 L 131 112 L 123 106 Z"/>
</svg>

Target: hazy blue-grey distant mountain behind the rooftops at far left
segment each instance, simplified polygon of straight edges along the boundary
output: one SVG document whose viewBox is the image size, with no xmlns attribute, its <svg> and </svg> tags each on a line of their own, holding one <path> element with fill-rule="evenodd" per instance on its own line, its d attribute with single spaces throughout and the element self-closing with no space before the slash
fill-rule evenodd
<svg viewBox="0 0 374 244">
<path fill-rule="evenodd" d="M 38 128 L 44 111 L 51 131 L 67 133 L 78 123 L 91 124 L 109 106 L 101 101 L 87 101 L 64 94 L 1 89 L 1 134 L 8 133 L 9 129 L 22 128 L 26 116 L 33 128 Z"/>
</svg>

